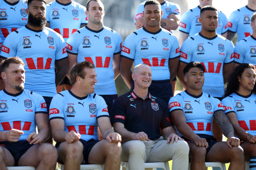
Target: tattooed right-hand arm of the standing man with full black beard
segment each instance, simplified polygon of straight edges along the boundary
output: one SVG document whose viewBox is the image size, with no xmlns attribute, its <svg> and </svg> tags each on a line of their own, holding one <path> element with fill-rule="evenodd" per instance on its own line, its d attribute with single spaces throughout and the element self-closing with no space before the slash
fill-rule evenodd
<svg viewBox="0 0 256 170">
<path fill-rule="evenodd" d="M 55 61 L 55 69 L 55 83 L 57 87 L 68 72 L 68 58 Z"/>
</svg>

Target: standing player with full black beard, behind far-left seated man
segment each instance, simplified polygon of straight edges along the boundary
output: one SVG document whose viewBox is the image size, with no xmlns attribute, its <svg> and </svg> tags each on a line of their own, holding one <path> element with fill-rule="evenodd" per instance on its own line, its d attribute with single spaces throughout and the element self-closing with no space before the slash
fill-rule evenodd
<svg viewBox="0 0 256 170">
<path fill-rule="evenodd" d="M 28 23 L 7 36 L 0 60 L 12 56 L 24 60 L 27 75 L 25 87 L 42 95 L 48 110 L 56 94 L 56 86 L 67 73 L 65 42 L 60 34 L 45 27 L 45 0 L 28 0 L 26 13 L 29 15 Z"/>
</svg>

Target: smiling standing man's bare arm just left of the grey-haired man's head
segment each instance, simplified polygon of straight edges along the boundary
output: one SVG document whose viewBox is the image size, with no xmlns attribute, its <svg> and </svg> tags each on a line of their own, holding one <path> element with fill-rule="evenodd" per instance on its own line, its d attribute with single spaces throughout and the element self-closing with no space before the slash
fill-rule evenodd
<svg viewBox="0 0 256 170">
<path fill-rule="evenodd" d="M 131 88 L 131 82 L 132 82 L 132 72 L 131 72 L 132 65 L 133 65 L 133 60 L 126 59 L 125 57 L 121 57 L 120 74 L 123 77 L 124 82 L 129 88 Z"/>
</svg>

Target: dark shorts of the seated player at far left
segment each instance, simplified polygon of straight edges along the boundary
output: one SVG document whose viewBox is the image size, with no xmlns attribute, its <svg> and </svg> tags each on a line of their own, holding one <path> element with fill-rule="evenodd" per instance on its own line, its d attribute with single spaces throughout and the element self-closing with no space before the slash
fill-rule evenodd
<svg viewBox="0 0 256 170">
<path fill-rule="evenodd" d="M 11 153 L 15 161 L 14 166 L 18 166 L 18 160 L 34 145 L 30 145 L 28 141 L 22 140 L 18 142 L 0 142 L 0 146 L 3 146 Z"/>
</svg>

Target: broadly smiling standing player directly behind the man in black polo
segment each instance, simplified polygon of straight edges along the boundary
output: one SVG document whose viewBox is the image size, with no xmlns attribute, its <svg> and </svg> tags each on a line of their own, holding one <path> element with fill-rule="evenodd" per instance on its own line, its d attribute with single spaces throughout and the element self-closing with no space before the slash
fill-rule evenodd
<svg viewBox="0 0 256 170">
<path fill-rule="evenodd" d="M 180 58 L 177 38 L 161 28 L 161 4 L 157 0 L 148 0 L 144 4 L 143 15 L 146 24 L 134 31 L 124 41 L 121 52 L 120 73 L 128 87 L 131 87 L 130 68 L 145 63 L 152 70 L 152 83 L 148 90 L 156 97 L 169 101 L 173 96 L 170 80 L 176 76 Z"/>
</svg>

